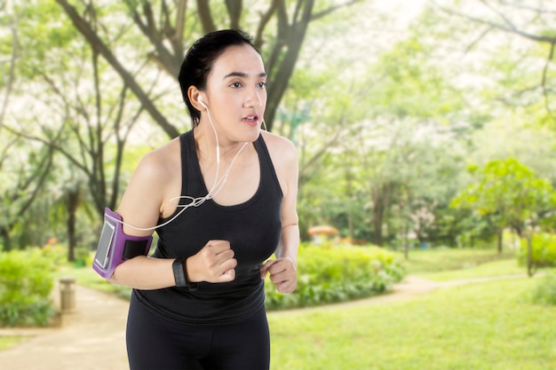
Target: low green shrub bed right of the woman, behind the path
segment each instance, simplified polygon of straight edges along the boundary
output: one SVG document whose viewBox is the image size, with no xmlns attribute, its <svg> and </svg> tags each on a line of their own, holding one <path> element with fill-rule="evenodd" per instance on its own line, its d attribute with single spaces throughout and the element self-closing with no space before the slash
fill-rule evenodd
<svg viewBox="0 0 556 370">
<path fill-rule="evenodd" d="M 394 255 L 377 247 L 313 246 L 298 253 L 298 287 L 282 295 L 266 284 L 269 310 L 348 301 L 384 293 L 405 272 Z"/>
</svg>

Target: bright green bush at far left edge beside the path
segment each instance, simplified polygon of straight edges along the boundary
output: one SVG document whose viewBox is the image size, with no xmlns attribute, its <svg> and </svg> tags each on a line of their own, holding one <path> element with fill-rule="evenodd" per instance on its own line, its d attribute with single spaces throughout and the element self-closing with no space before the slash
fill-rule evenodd
<svg viewBox="0 0 556 370">
<path fill-rule="evenodd" d="M 52 258 L 38 248 L 0 253 L 0 327 L 49 323 L 53 271 Z"/>
</svg>

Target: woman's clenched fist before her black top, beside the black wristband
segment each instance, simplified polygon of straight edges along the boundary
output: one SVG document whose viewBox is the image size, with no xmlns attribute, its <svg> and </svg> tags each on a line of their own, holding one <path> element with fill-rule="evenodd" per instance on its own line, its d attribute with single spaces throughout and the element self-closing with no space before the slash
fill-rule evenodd
<svg viewBox="0 0 556 370">
<path fill-rule="evenodd" d="M 187 258 L 186 264 L 191 282 L 224 283 L 235 279 L 237 260 L 227 240 L 209 240 L 196 255 Z"/>
</svg>

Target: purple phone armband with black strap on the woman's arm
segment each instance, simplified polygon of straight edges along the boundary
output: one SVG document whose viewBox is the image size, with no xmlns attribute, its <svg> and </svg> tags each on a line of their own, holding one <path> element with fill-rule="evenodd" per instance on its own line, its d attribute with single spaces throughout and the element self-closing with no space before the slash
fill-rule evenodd
<svg viewBox="0 0 556 370">
<path fill-rule="evenodd" d="M 151 235 L 139 237 L 124 234 L 122 216 L 105 208 L 104 224 L 92 269 L 104 279 L 109 279 L 118 264 L 135 256 L 147 256 L 152 242 Z"/>
</svg>

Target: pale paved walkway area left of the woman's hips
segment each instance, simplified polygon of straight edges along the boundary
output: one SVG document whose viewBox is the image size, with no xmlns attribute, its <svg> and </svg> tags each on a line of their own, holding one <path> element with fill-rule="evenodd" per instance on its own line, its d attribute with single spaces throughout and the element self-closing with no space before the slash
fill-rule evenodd
<svg viewBox="0 0 556 370">
<path fill-rule="evenodd" d="M 75 311 L 60 327 L 0 329 L 0 335 L 30 338 L 0 351 L 2 370 L 128 369 L 125 322 L 128 303 L 85 287 L 75 288 Z"/>
</svg>

